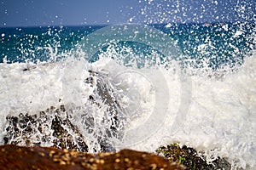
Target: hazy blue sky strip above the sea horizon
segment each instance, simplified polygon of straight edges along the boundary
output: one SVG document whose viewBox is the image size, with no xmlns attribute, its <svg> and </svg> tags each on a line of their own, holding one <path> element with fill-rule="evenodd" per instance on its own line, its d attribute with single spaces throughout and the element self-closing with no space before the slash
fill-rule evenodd
<svg viewBox="0 0 256 170">
<path fill-rule="evenodd" d="M 0 0 L 0 27 L 255 21 L 255 0 Z"/>
</svg>

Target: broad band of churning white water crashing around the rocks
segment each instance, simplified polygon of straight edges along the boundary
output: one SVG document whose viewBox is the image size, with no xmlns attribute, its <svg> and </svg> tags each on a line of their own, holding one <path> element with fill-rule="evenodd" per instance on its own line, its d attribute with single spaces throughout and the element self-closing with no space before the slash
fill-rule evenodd
<svg viewBox="0 0 256 170">
<path fill-rule="evenodd" d="M 236 72 L 224 73 L 221 78 L 201 75 L 200 71 L 185 77 L 178 71 L 161 68 L 131 69 L 111 59 L 100 59 L 93 65 L 83 59 L 30 64 L 30 71 L 23 71 L 27 64 L 0 64 L 0 137 L 3 139 L 7 115 L 35 113 L 62 104 L 73 109 L 73 114 L 88 110 L 85 104 L 95 87 L 83 82 L 89 76 L 88 70 L 93 70 L 105 75 L 104 82 L 113 86 L 127 118 L 124 138 L 112 141 L 117 149 L 154 151 L 161 144 L 179 142 L 205 150 L 209 160 L 210 156 L 228 157 L 234 169 L 253 168 L 256 166 L 255 57 L 254 54 L 247 58 Z M 95 117 L 102 117 L 108 106 L 90 107 Z M 83 131 L 77 117 L 75 121 Z M 83 133 L 87 134 L 84 136 L 89 147 L 95 147 L 93 136 Z"/>
</svg>

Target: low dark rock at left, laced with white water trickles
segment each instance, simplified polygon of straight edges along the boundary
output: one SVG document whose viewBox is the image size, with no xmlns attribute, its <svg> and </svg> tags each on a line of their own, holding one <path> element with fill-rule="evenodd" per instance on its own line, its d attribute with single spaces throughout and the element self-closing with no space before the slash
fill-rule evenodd
<svg viewBox="0 0 256 170">
<path fill-rule="evenodd" d="M 51 145 L 59 149 L 88 151 L 84 136 L 69 119 L 64 106 L 50 107 L 38 115 L 7 116 L 4 144 Z"/>
</svg>

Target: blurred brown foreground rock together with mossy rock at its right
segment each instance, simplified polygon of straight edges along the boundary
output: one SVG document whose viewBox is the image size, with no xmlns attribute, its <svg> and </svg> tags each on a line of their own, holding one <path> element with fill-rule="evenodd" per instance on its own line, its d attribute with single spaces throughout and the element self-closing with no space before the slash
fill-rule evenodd
<svg viewBox="0 0 256 170">
<path fill-rule="evenodd" d="M 224 158 L 207 163 L 195 149 L 178 144 L 161 146 L 154 153 L 137 150 L 91 154 L 55 147 L 0 146 L 1 169 L 191 169 L 230 170 Z"/>
</svg>

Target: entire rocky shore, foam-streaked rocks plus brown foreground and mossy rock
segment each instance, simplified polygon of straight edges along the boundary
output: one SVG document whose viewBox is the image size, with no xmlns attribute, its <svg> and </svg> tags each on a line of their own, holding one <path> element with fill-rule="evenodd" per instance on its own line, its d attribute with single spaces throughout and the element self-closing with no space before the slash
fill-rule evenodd
<svg viewBox="0 0 256 170">
<path fill-rule="evenodd" d="M 86 110 L 79 111 L 79 121 L 61 99 L 60 105 L 45 111 L 6 116 L 0 139 L 4 144 L 0 146 L 0 169 L 231 169 L 225 159 L 208 164 L 200 152 L 178 144 L 160 146 L 154 153 L 115 152 L 109 139 L 121 139 L 125 127 L 119 98 L 104 74 L 90 71 L 84 83 L 94 91 L 84 104 Z M 104 114 L 96 117 L 91 108 Z M 83 122 L 82 129 L 79 122 Z M 95 140 L 90 141 L 90 137 Z"/>
</svg>

